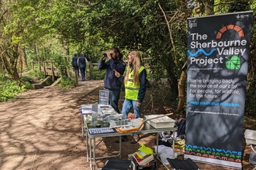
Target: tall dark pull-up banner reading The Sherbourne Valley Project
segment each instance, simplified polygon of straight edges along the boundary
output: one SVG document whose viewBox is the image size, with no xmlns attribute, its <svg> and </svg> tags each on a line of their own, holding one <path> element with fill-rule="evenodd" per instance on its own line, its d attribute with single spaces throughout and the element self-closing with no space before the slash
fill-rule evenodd
<svg viewBox="0 0 256 170">
<path fill-rule="evenodd" d="M 241 168 L 252 12 L 188 19 L 185 158 Z"/>
</svg>

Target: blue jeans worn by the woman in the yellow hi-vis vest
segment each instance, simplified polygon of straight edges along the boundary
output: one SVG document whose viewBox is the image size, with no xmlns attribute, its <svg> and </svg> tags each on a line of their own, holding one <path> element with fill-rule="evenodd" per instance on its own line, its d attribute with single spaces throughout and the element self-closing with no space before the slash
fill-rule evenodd
<svg viewBox="0 0 256 170">
<path fill-rule="evenodd" d="M 126 117 L 127 117 L 130 108 L 133 107 L 135 118 L 136 119 L 139 118 L 140 117 L 141 106 L 137 107 L 136 104 L 137 104 L 136 100 L 125 99 L 124 102 L 123 102 L 122 114 L 125 114 Z"/>
</svg>

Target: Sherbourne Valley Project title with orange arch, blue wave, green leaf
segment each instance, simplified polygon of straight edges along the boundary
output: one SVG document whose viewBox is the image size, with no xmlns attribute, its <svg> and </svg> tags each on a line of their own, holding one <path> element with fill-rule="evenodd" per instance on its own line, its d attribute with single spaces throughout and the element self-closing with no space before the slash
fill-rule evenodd
<svg viewBox="0 0 256 170">
<path fill-rule="evenodd" d="M 221 40 L 223 33 L 227 31 L 237 32 L 237 36 L 240 39 Z M 243 39 L 244 31 L 240 26 L 223 26 L 216 33 L 216 39 L 211 39 L 210 41 L 207 41 L 207 34 L 191 33 L 191 36 L 191 49 L 188 50 L 189 56 L 191 56 L 190 64 L 198 66 L 209 66 L 211 64 L 219 64 L 221 66 L 220 64 L 223 64 L 228 70 L 240 69 L 240 56 L 244 56 L 248 43 L 246 39 Z M 222 70 L 223 68 L 218 69 Z"/>
</svg>

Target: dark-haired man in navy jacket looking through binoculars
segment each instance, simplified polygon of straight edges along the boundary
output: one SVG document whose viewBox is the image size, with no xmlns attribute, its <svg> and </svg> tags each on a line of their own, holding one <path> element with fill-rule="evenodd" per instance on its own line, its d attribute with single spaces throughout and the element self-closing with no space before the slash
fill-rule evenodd
<svg viewBox="0 0 256 170">
<path fill-rule="evenodd" d="M 115 76 L 114 70 L 123 75 L 124 70 L 126 69 L 126 63 L 123 62 L 122 58 L 123 54 L 120 53 L 119 49 L 113 47 L 103 54 L 103 58 L 98 65 L 99 70 L 106 70 L 104 89 L 109 90 L 109 104 L 116 110 L 117 113 L 120 113 L 118 108 L 118 100 L 123 83 Z M 106 62 L 106 59 L 109 60 Z"/>
</svg>

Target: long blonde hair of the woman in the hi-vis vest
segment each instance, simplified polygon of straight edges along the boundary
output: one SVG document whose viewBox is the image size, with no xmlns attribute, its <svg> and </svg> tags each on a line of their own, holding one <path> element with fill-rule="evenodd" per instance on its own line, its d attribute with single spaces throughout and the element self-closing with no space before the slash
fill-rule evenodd
<svg viewBox="0 0 256 170">
<path fill-rule="evenodd" d="M 139 80 L 139 71 L 140 71 L 140 64 L 141 64 L 141 57 L 140 52 L 138 50 L 133 50 L 130 53 L 134 55 L 133 59 L 133 83 L 135 86 L 138 86 L 140 84 Z M 124 78 L 124 83 L 127 83 L 129 79 L 129 73 L 130 73 L 130 63 L 127 65 L 126 69 L 126 76 Z"/>
</svg>

